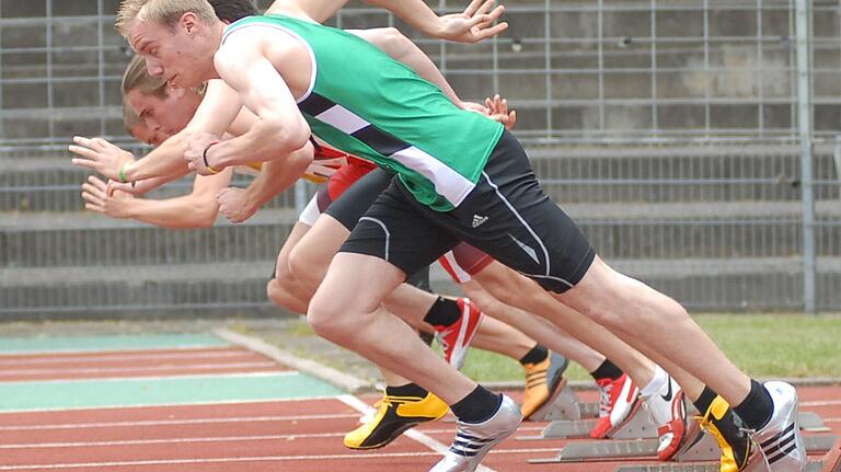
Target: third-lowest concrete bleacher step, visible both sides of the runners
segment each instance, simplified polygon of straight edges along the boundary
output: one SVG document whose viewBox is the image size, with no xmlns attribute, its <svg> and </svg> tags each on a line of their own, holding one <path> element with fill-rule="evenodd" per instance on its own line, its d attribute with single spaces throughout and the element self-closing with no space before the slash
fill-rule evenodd
<svg viewBox="0 0 841 472">
<path fill-rule="evenodd" d="M 799 156 L 791 146 L 532 146 L 529 154 L 546 193 L 564 205 L 800 198 Z M 78 189 L 87 173 L 70 165 L 62 148 L 0 149 L 0 211 L 80 208 Z M 817 149 L 815 162 L 815 179 L 822 182 L 815 188 L 818 199 L 841 198 L 832 149 Z"/>
</svg>

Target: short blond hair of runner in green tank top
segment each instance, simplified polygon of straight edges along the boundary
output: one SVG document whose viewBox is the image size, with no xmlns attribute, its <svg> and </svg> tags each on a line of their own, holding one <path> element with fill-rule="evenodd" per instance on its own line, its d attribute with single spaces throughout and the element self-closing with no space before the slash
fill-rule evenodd
<svg viewBox="0 0 841 472">
<path fill-rule="evenodd" d="M 207 0 L 123 0 L 114 27 L 123 37 L 128 37 L 128 30 L 136 19 L 173 26 L 187 12 L 195 13 L 207 24 L 219 21 Z"/>
</svg>

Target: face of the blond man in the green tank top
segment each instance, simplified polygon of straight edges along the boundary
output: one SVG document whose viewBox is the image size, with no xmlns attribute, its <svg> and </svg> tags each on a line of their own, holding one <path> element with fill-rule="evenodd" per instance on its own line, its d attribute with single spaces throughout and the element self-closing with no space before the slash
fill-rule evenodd
<svg viewBox="0 0 841 472">
<path fill-rule="evenodd" d="M 135 20 L 128 34 L 131 47 L 146 59 L 151 76 L 162 76 L 171 85 L 198 87 L 212 77 L 215 47 L 209 26 L 193 13 L 184 13 L 172 26 Z"/>
</svg>

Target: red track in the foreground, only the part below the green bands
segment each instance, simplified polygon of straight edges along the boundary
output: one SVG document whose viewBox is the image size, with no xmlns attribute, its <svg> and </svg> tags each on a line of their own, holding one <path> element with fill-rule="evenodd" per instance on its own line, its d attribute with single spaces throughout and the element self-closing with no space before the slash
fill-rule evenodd
<svg viewBox="0 0 841 472">
<path fill-rule="evenodd" d="M 820 414 L 832 433 L 841 435 L 841 389 L 798 391 L 802 410 Z M 591 394 L 581 396 L 592 400 Z M 407 435 L 380 450 L 349 451 L 342 436 L 357 418 L 358 413 L 338 400 L 0 414 L 0 471 L 404 472 L 426 471 L 440 458 Z M 542 427 L 523 424 L 519 434 L 535 435 Z M 448 445 L 453 425 L 439 422 L 417 431 Z M 497 472 L 599 472 L 618 464 L 526 463 L 528 458 L 554 456 L 564 444 L 509 439 L 485 464 Z M 840 446 L 825 459 L 834 463 Z"/>
</svg>

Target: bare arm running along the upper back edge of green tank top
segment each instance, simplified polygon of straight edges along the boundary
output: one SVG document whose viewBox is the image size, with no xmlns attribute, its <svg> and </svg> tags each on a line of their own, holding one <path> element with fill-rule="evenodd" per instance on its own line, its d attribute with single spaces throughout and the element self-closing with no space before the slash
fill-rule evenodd
<svg viewBox="0 0 841 472">
<path fill-rule="evenodd" d="M 438 85 L 447 95 L 448 99 L 459 107 L 463 107 L 461 99 L 456 94 L 443 73 L 438 67 L 429 59 L 429 56 L 424 54 L 417 45 L 412 43 L 411 39 L 405 37 L 398 28 L 382 27 L 375 30 L 354 30 L 350 33 L 356 34 L 362 39 L 371 43 L 372 45 L 382 49 L 385 54 L 391 56 L 394 60 L 399 60 L 408 66 L 412 70 L 417 72 L 418 76 Z"/>
</svg>

